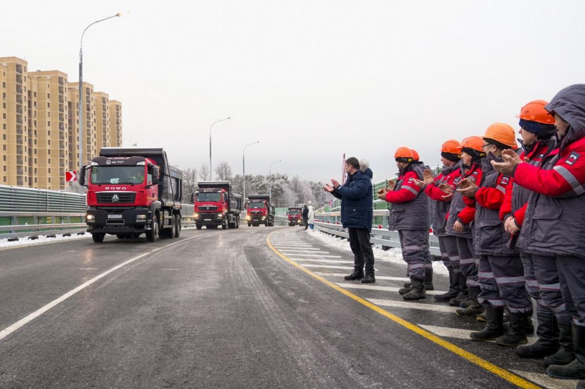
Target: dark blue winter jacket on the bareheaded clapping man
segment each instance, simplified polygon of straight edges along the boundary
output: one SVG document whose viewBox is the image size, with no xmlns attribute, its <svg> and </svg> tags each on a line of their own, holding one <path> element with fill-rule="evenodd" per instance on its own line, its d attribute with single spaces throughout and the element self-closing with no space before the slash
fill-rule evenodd
<svg viewBox="0 0 585 389">
<path fill-rule="evenodd" d="M 341 199 L 341 223 L 343 228 L 365 228 L 371 232 L 373 220 L 373 194 L 370 168 L 358 170 L 347 178 L 342 186 L 333 191 Z"/>
</svg>

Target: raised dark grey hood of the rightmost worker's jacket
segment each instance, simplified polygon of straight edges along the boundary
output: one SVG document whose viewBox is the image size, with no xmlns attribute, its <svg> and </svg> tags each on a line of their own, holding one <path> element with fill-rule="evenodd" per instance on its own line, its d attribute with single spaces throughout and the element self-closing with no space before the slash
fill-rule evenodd
<svg viewBox="0 0 585 389">
<path fill-rule="evenodd" d="M 585 136 L 585 84 L 574 84 L 561 89 L 545 109 L 569 123 L 570 128 L 560 143 L 560 150 Z"/>
</svg>

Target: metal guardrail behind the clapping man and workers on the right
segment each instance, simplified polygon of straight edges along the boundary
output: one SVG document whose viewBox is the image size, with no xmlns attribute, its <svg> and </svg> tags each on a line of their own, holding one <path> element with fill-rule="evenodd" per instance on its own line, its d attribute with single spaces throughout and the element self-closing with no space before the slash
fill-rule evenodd
<svg viewBox="0 0 585 389">
<path fill-rule="evenodd" d="M 383 248 L 400 248 L 400 237 L 398 237 L 398 232 L 388 230 L 387 228 L 390 211 L 388 211 L 388 209 L 377 209 L 374 211 L 374 217 L 376 216 L 381 217 L 385 223 L 384 225 L 378 224 L 372 226 L 370 242 L 381 245 Z M 341 212 L 326 212 L 316 214 L 315 218 L 317 219 L 317 221 L 315 221 L 315 229 L 345 239 L 349 238 L 347 229 L 343 228 L 341 225 Z M 439 250 L 439 240 L 435 235 L 429 236 L 429 245 L 431 255 L 441 257 L 441 250 Z"/>
</svg>

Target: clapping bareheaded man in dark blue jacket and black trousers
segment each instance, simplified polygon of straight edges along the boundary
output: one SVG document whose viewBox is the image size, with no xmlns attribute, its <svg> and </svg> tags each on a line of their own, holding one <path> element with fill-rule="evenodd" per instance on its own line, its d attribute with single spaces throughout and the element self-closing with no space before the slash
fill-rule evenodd
<svg viewBox="0 0 585 389">
<path fill-rule="evenodd" d="M 374 278 L 374 252 L 370 244 L 371 223 L 373 219 L 373 195 L 371 178 L 373 173 L 364 166 L 360 170 L 360 163 L 355 157 L 345 161 L 345 171 L 348 175 L 343 185 L 331 180 L 333 186 L 326 184 L 324 190 L 336 198 L 341 199 L 341 223 L 349 232 L 349 245 L 354 256 L 354 270 L 346 280 L 362 280 L 369 284 L 376 282 Z M 366 274 L 364 276 L 364 264 Z"/>
</svg>

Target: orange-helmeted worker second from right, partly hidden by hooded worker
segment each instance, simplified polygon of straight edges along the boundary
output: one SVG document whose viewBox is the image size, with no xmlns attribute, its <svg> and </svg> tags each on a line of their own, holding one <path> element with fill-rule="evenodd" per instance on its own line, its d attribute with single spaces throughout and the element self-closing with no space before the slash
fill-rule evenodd
<svg viewBox="0 0 585 389">
<path fill-rule="evenodd" d="M 556 149 L 557 142 L 550 139 L 556 133 L 555 118 L 545 109 L 548 102 L 534 100 L 520 110 L 520 135 L 522 153 L 520 159 L 532 166 L 540 167 L 542 159 Z M 500 208 L 500 219 L 506 232 L 517 239 L 524 223 L 528 198 L 532 194 L 514 183 L 506 188 L 504 204 Z M 546 253 L 519 250 L 526 290 L 536 301 L 538 340 L 532 345 L 518 346 L 516 353 L 523 358 L 543 358 L 545 364 L 567 364 L 574 359 L 571 315 L 565 308 L 560 294 L 559 270 L 555 256 Z"/>
</svg>

